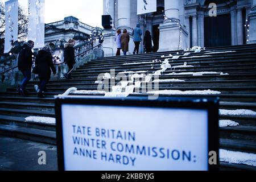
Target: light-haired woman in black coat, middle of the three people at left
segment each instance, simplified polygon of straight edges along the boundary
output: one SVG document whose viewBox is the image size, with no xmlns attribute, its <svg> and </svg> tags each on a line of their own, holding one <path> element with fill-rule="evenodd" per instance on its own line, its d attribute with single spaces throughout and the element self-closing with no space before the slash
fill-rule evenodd
<svg viewBox="0 0 256 182">
<path fill-rule="evenodd" d="M 51 74 L 56 74 L 56 69 L 53 65 L 52 61 L 52 53 L 51 47 L 49 44 L 46 44 L 42 50 L 38 52 L 36 56 L 35 66 L 38 69 L 38 77 L 40 79 L 39 90 L 38 90 L 38 97 L 44 98 L 46 96 L 43 95 L 43 91 L 46 88 L 46 84 L 51 78 Z"/>
</svg>

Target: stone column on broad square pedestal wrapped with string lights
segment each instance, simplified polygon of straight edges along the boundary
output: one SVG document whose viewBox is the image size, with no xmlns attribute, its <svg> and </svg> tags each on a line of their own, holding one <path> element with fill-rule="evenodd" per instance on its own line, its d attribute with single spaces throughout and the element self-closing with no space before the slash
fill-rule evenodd
<svg viewBox="0 0 256 182">
<path fill-rule="evenodd" d="M 168 19 L 165 19 L 163 24 L 160 24 L 159 26 L 160 38 L 158 52 L 177 50 L 179 47 L 180 35 L 180 48 L 188 48 L 188 32 L 182 25 L 178 23 L 180 22 L 179 0 L 164 0 L 164 9 Z"/>
</svg>

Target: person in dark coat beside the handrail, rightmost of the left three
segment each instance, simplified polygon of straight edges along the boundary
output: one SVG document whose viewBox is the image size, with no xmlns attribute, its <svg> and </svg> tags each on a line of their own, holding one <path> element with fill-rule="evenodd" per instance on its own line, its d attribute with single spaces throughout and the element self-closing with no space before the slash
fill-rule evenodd
<svg viewBox="0 0 256 182">
<path fill-rule="evenodd" d="M 75 46 L 76 40 L 69 39 L 68 43 L 64 44 L 64 62 L 68 64 L 68 73 L 64 74 L 64 77 L 71 79 L 71 72 L 75 69 Z"/>
</svg>

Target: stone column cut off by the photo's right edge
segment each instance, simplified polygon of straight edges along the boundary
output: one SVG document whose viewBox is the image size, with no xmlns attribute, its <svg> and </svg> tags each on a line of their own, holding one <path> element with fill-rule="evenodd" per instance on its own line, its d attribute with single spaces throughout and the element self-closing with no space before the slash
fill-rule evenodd
<svg viewBox="0 0 256 182">
<path fill-rule="evenodd" d="M 251 2 L 251 12 L 249 14 L 249 21 L 250 21 L 250 27 L 249 27 L 249 44 L 255 44 L 256 43 L 256 0 L 253 0 Z"/>
</svg>

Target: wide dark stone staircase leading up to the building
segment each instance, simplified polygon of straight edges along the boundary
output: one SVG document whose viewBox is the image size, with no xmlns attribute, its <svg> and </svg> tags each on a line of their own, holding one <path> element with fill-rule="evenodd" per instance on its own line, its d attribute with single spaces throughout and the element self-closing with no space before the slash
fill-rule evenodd
<svg viewBox="0 0 256 182">
<path fill-rule="evenodd" d="M 221 92 L 220 109 L 237 110 L 248 109 L 256 111 L 256 44 L 247 46 L 213 47 L 200 53 L 191 53 L 183 56 L 183 51 L 159 52 L 144 55 L 129 55 L 106 57 L 92 60 L 77 68 L 72 74 L 72 80 L 49 82 L 47 98 L 39 99 L 34 91 L 34 84 L 30 82 L 27 90 L 30 96 L 20 97 L 16 88 L 9 88 L 0 93 L 0 135 L 12 138 L 32 140 L 40 143 L 56 144 L 55 125 L 24 122 L 29 116 L 55 117 L 53 96 L 62 94 L 71 87 L 78 90 L 97 90 L 95 81 L 100 73 L 115 74 L 123 71 L 146 71 L 147 74 L 158 71 L 160 63 L 152 62 L 161 56 L 179 55 L 179 59 L 170 60 L 172 67 L 187 65 L 193 67 L 167 69 L 160 80 L 179 79 L 183 82 L 159 82 L 159 90 L 215 90 Z M 141 63 L 141 64 L 127 64 Z M 168 75 L 169 73 L 182 75 Z M 186 75 L 188 72 L 217 72 L 204 75 Z M 140 73 L 140 72 L 138 72 Z M 223 74 L 220 74 L 223 73 Z M 225 74 L 228 73 L 228 74 Z M 128 74 L 126 74 L 129 77 Z M 130 77 L 129 77 L 130 79 Z M 116 84 L 119 80 L 116 78 Z M 109 92 L 112 88 L 105 86 Z M 104 96 L 104 94 L 93 94 Z M 144 96 L 145 93 L 133 93 L 130 96 Z M 166 95 L 165 95 L 166 96 Z M 220 127 L 220 148 L 229 151 L 240 151 L 256 154 L 256 115 L 221 115 L 220 120 L 238 122 L 238 126 Z M 231 164 L 220 162 L 221 169 L 256 170 L 256 167 L 245 164 Z"/>
</svg>

